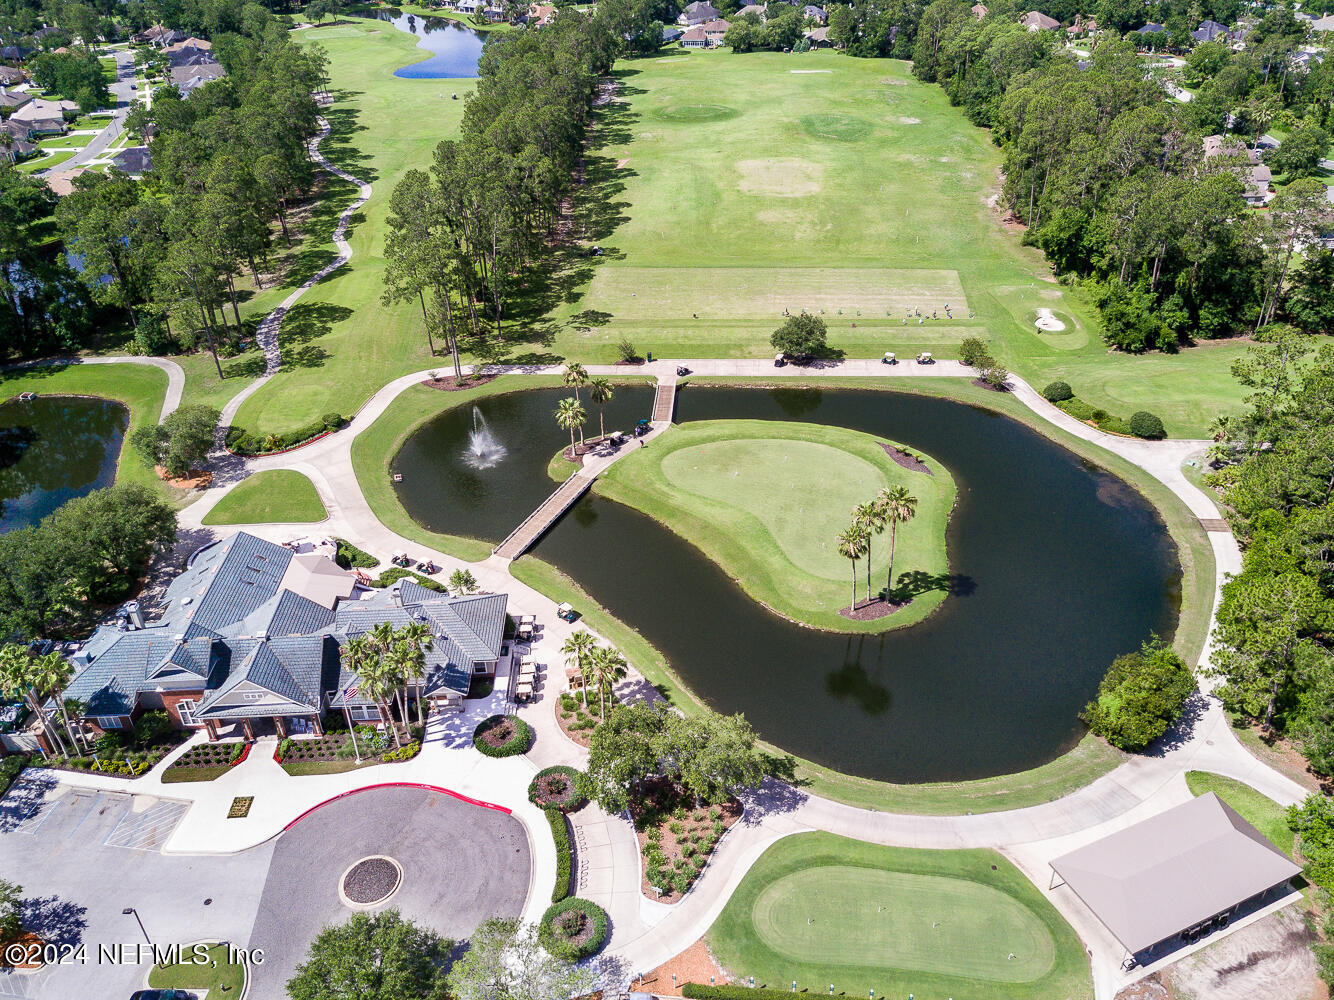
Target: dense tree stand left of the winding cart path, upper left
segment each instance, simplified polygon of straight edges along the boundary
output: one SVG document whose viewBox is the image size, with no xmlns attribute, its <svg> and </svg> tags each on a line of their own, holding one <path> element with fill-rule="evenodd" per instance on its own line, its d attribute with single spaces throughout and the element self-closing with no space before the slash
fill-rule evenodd
<svg viewBox="0 0 1334 1000">
<path fill-rule="evenodd" d="M 313 180 L 323 52 L 261 7 L 241 16 L 251 33 L 215 36 L 225 77 L 185 100 L 161 88 L 131 112 L 153 133 L 147 177 L 84 173 L 56 209 L 88 295 L 129 316 L 145 353 L 203 341 L 216 360 L 240 340 L 236 279 L 263 284 L 273 228 L 287 235 L 288 203 Z"/>
</svg>

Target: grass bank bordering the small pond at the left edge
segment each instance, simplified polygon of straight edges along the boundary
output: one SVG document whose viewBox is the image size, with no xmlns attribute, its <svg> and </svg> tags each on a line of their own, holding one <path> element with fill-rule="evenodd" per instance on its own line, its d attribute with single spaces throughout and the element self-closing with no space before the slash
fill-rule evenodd
<svg viewBox="0 0 1334 1000">
<path fill-rule="evenodd" d="M 167 372 L 140 364 L 37 365 L 0 372 L 0 399 L 29 391 L 44 396 L 103 396 L 124 403 L 129 408 L 128 441 L 135 431 L 156 424 L 161 416 Z M 192 496 L 168 487 L 137 452 L 125 447 L 116 463 L 116 481 L 148 483 L 172 500 Z"/>
</svg>

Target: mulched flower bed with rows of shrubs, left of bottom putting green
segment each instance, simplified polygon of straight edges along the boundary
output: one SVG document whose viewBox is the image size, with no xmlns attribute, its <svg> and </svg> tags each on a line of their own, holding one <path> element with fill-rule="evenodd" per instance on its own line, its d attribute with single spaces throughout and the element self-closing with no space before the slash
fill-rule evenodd
<svg viewBox="0 0 1334 1000">
<path fill-rule="evenodd" d="M 723 835 L 742 817 L 742 804 L 695 805 L 672 781 L 648 783 L 630 807 L 644 859 L 640 892 L 659 903 L 678 903 L 704 871 Z M 659 892 L 655 892 L 659 889 Z"/>
</svg>

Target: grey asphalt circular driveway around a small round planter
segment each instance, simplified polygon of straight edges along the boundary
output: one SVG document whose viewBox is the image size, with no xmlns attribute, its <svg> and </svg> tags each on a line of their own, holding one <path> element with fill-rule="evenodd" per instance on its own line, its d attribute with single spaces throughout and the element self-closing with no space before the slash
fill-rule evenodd
<svg viewBox="0 0 1334 1000">
<path fill-rule="evenodd" d="M 285 984 L 315 936 L 346 923 L 339 880 L 368 855 L 403 865 L 386 907 L 452 941 L 488 917 L 515 917 L 528 895 L 531 857 L 512 816 L 426 788 L 372 788 L 338 799 L 283 833 L 273 848 L 249 947 L 255 1000 L 287 996 Z"/>
</svg>

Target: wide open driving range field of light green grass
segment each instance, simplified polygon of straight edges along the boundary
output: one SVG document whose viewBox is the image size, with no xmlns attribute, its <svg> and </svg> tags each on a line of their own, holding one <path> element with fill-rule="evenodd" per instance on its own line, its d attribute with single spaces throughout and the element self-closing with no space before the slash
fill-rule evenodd
<svg viewBox="0 0 1334 1000">
<path fill-rule="evenodd" d="M 552 312 L 559 352 L 610 361 L 630 337 L 659 357 L 764 357 L 783 311 L 808 309 L 854 357 L 950 357 L 987 337 L 1039 387 L 1063 379 L 1109 412 L 1150 409 L 1174 436 L 1241 408 L 1229 368 L 1243 343 L 1107 352 L 1086 296 L 988 205 L 990 133 L 907 63 L 707 52 L 624 60 L 616 76 L 588 168 L 603 204 L 584 209 L 588 239 L 614 252 Z M 1065 331 L 1033 325 L 1043 307 Z"/>
</svg>

